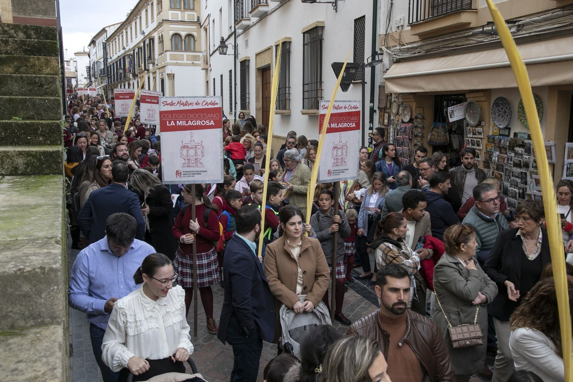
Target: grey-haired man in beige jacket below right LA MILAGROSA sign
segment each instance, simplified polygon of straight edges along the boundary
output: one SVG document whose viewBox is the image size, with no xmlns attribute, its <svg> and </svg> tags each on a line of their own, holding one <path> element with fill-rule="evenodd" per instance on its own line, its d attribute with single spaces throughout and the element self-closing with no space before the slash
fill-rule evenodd
<svg viewBox="0 0 573 382">
<path fill-rule="evenodd" d="M 300 162 L 300 153 L 296 149 L 288 149 L 284 153 L 285 172 L 282 181 L 288 184 L 290 190 L 285 203 L 300 208 L 307 214 L 308 182 L 311 180 L 311 169 Z"/>
</svg>

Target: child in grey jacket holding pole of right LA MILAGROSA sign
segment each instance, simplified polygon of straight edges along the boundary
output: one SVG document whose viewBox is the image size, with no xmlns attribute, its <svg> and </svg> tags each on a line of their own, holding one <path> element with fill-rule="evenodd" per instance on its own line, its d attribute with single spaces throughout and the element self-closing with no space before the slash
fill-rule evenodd
<svg viewBox="0 0 573 382">
<path fill-rule="evenodd" d="M 320 191 L 318 195 L 319 210 L 311 217 L 312 230 L 316 233 L 316 238 L 320 241 L 320 246 L 326 257 L 328 267 L 331 269 L 331 277 L 336 278 L 336 306 L 334 319 L 340 324 L 350 325 L 352 322 L 342 314 L 342 304 L 344 303 L 344 279 L 346 270 L 344 268 L 344 238 L 350 235 L 350 226 L 346 220 L 344 211 L 339 210 L 338 215 L 334 215 L 334 194 L 328 188 Z M 336 246 L 336 258 L 332 258 L 332 234 L 338 232 L 338 242 Z M 332 265 L 335 265 L 332 269 Z M 323 302 L 329 306 L 328 290 L 324 294 Z M 330 309 L 330 308 L 328 308 Z"/>
</svg>

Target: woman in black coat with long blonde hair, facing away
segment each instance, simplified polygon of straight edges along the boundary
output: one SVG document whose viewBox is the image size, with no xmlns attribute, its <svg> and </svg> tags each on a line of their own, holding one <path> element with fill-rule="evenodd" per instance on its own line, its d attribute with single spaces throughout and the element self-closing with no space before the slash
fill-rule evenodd
<svg viewBox="0 0 573 382">
<path fill-rule="evenodd" d="M 173 260 L 177 246 L 171 233 L 173 201 L 167 187 L 163 186 L 157 176 L 143 168 L 138 168 L 129 176 L 129 185 L 139 195 L 142 204 L 146 220 L 146 243 Z"/>
</svg>

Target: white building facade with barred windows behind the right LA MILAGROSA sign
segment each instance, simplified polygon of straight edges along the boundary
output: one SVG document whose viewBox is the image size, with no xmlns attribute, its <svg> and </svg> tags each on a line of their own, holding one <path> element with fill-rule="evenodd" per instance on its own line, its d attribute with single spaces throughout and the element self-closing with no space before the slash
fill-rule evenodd
<svg viewBox="0 0 573 382">
<path fill-rule="evenodd" d="M 273 131 L 277 136 L 295 130 L 308 139 L 316 139 L 319 103 L 330 99 L 336 84 L 332 62 L 344 62 L 350 53 L 348 62 L 362 65 L 371 56 L 372 2 L 338 1 L 336 10 L 333 4 L 299 0 L 203 0 L 202 4 L 203 44 L 207 48 L 202 58 L 205 88 L 208 94 L 223 97 L 223 110 L 231 120 L 244 112 L 245 116 L 256 117 L 258 124 L 268 125 L 271 82 L 282 38 Z M 232 47 L 234 30 L 236 62 Z M 225 44 L 230 44 L 226 56 L 217 51 L 221 37 Z M 370 73 L 370 69 L 360 69 L 348 91 L 339 89 L 336 95 L 337 100 L 361 101 L 364 90 L 366 141 Z M 362 83 L 364 80 L 367 84 Z M 374 118 L 377 120 L 378 116 Z"/>
</svg>

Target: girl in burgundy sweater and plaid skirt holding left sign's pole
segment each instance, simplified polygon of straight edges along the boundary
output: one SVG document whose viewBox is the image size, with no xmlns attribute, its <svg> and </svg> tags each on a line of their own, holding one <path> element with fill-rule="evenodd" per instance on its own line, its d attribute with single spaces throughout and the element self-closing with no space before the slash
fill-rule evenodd
<svg viewBox="0 0 573 382">
<path fill-rule="evenodd" d="M 186 204 L 191 203 L 191 184 L 183 188 L 183 199 Z M 206 208 L 210 208 L 206 214 Z M 185 211 L 182 215 L 181 212 Z M 213 290 L 211 285 L 219 283 L 219 264 L 217 251 L 213 242 L 219 240 L 219 219 L 217 206 L 207 199 L 203 193 L 203 186 L 195 184 L 195 220 L 191 220 L 191 206 L 183 207 L 175 219 L 173 235 L 179 242 L 175 253 L 173 267 L 179 274 L 178 283 L 185 290 L 186 316 L 193 299 L 193 242 L 197 243 L 197 286 L 201 294 L 201 302 L 207 316 L 207 329 L 209 333 L 217 333 L 217 324 L 213 318 Z"/>
</svg>

